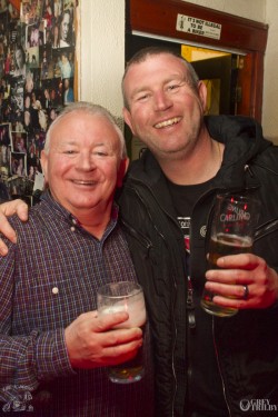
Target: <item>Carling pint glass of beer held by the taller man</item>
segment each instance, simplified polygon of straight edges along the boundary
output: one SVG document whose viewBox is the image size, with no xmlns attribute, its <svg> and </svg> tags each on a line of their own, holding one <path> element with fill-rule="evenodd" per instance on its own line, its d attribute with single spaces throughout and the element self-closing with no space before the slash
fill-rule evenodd
<svg viewBox="0 0 278 417">
<path fill-rule="evenodd" d="M 211 224 L 208 268 L 218 269 L 217 259 L 227 255 L 252 251 L 255 227 L 258 219 L 258 200 L 248 195 L 218 195 Z M 203 289 L 201 307 L 209 314 L 229 317 L 238 309 L 218 306 L 216 294 Z"/>
</svg>

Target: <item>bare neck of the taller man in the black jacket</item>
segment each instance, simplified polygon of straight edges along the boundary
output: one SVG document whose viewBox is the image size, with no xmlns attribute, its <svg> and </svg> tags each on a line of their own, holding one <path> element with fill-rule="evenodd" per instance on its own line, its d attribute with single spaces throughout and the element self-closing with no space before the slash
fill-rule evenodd
<svg viewBox="0 0 278 417">
<path fill-rule="evenodd" d="M 209 135 L 200 139 L 193 149 L 172 159 L 160 159 L 166 177 L 173 183 L 191 186 L 202 183 L 216 176 L 220 169 L 224 145 Z"/>
</svg>

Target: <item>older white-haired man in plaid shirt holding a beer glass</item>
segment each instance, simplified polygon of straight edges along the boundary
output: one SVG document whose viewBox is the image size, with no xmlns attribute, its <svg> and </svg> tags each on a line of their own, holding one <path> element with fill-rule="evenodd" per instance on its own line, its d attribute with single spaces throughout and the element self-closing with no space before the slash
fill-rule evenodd
<svg viewBox="0 0 278 417">
<path fill-rule="evenodd" d="M 98 318 L 97 288 L 136 280 L 113 195 L 127 168 L 125 140 L 101 107 L 76 103 L 51 125 L 41 153 L 47 191 L 18 244 L 0 260 L 0 401 L 36 416 L 152 416 L 151 364 L 131 385 L 106 367 L 142 345 L 139 328 Z"/>
</svg>

